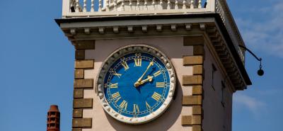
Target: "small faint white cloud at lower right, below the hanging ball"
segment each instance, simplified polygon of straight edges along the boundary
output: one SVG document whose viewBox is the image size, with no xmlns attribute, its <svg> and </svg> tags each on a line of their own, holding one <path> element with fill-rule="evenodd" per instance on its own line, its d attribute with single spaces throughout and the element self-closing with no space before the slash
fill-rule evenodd
<svg viewBox="0 0 283 131">
<path fill-rule="evenodd" d="M 265 103 L 256 98 L 243 93 L 236 93 L 233 99 L 236 108 L 246 108 L 254 115 L 258 115 L 261 110 L 265 110 Z"/>
</svg>

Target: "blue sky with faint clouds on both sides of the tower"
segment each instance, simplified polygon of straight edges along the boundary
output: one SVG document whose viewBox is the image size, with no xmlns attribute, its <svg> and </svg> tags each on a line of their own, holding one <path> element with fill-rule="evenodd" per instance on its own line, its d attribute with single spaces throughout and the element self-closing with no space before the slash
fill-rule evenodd
<svg viewBox="0 0 283 131">
<path fill-rule="evenodd" d="M 283 1 L 228 1 L 247 47 L 263 58 L 265 75 L 247 54 L 253 81 L 233 98 L 233 131 L 282 130 Z M 0 1 L 0 127 L 46 130 L 51 104 L 62 111 L 61 130 L 71 130 L 74 47 L 54 18 L 62 1 Z"/>
</svg>

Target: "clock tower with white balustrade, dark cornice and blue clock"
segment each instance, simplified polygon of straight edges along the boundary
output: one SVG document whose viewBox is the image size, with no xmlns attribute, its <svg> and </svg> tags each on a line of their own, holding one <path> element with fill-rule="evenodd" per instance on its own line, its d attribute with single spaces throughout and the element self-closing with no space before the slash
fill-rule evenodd
<svg viewBox="0 0 283 131">
<path fill-rule="evenodd" d="M 72 131 L 231 131 L 251 84 L 226 0 L 63 0 Z"/>
</svg>

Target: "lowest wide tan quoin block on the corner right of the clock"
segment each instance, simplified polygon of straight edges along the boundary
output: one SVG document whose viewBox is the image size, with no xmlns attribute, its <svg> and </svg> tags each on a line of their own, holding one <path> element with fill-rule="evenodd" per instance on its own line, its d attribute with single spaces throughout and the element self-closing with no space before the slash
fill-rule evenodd
<svg viewBox="0 0 283 131">
<path fill-rule="evenodd" d="M 182 125 L 201 125 L 202 117 L 200 115 L 183 115 L 181 123 Z"/>
</svg>

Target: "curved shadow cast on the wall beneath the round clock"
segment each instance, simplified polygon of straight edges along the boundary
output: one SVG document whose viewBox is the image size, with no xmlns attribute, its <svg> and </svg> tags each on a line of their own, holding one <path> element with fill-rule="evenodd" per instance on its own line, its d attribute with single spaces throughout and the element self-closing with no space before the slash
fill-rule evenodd
<svg viewBox="0 0 283 131">
<path fill-rule="evenodd" d="M 145 123 L 141 125 L 128 125 L 112 118 L 108 113 L 104 112 L 107 116 L 109 123 L 117 131 L 132 131 L 132 130 L 142 130 L 142 131 L 163 131 L 169 130 L 172 125 L 179 118 L 179 115 L 182 110 L 182 86 L 180 82 L 176 81 L 176 89 L 174 94 L 174 99 L 171 102 L 171 105 L 168 107 L 165 113 L 151 121 L 150 123 Z"/>
</svg>

